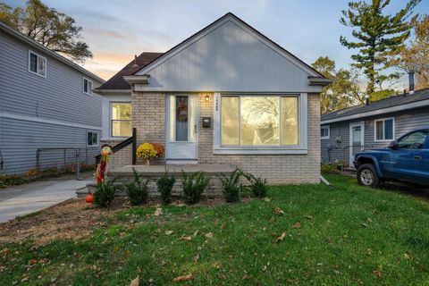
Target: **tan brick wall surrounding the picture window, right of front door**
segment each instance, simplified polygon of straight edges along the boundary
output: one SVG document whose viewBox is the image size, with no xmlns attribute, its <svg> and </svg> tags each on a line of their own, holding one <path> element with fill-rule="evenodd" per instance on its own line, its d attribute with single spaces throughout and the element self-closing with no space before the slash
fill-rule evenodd
<svg viewBox="0 0 429 286">
<path fill-rule="evenodd" d="M 202 117 L 214 117 L 213 100 L 198 96 L 198 163 L 231 164 L 268 179 L 270 184 L 320 182 L 320 97 L 308 94 L 307 155 L 214 155 L 212 128 L 202 128 Z"/>
</svg>

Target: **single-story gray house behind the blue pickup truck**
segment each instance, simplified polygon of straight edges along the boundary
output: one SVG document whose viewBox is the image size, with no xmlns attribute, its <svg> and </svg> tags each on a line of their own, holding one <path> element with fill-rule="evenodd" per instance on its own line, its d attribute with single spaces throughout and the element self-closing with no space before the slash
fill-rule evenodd
<svg viewBox="0 0 429 286">
<path fill-rule="evenodd" d="M 346 108 L 321 118 L 322 162 L 344 161 L 363 148 L 387 147 L 408 131 L 429 125 L 429 88 L 368 105 Z"/>
</svg>

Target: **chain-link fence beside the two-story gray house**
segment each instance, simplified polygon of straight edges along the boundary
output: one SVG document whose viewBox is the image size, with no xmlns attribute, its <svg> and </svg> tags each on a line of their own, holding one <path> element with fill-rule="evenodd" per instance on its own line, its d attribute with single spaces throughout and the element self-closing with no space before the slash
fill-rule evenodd
<svg viewBox="0 0 429 286">
<path fill-rule="evenodd" d="M 36 172 L 38 177 L 75 173 L 80 180 L 80 172 L 93 170 L 100 153 L 98 147 L 46 147 L 36 151 Z"/>
</svg>

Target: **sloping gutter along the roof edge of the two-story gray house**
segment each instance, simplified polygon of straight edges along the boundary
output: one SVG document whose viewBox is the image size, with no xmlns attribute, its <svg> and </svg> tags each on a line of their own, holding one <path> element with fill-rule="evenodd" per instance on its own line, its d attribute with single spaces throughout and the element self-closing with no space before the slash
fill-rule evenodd
<svg viewBox="0 0 429 286">
<path fill-rule="evenodd" d="M 57 60 L 57 61 L 59 61 L 61 63 L 65 63 L 66 65 L 70 66 L 71 68 L 82 72 L 83 74 L 85 74 L 89 78 L 91 78 L 92 80 L 97 80 L 100 83 L 105 83 L 105 80 L 103 80 L 102 78 L 98 77 L 94 73 L 85 70 L 79 64 L 73 63 L 70 60 L 68 60 L 65 57 L 63 57 L 62 55 L 56 54 L 54 51 L 50 50 L 46 46 L 43 46 L 43 45 L 39 44 L 37 41 L 35 41 L 32 38 L 28 38 L 27 36 L 24 36 L 18 30 L 13 29 L 13 28 L 7 26 L 6 24 L 4 24 L 1 21 L 0 21 L 0 30 L 4 31 L 6 34 L 9 34 L 10 36 L 13 36 L 14 38 L 20 39 L 22 42 L 28 44 L 29 46 L 32 46 L 34 48 L 37 48 L 38 50 L 41 50 L 46 55 L 49 55 L 49 56 L 55 58 L 55 60 Z"/>
</svg>

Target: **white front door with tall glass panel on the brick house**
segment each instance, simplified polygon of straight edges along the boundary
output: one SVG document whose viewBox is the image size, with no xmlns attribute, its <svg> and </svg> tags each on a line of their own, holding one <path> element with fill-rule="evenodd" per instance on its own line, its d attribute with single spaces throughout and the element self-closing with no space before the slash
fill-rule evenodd
<svg viewBox="0 0 429 286">
<path fill-rule="evenodd" d="M 165 158 L 168 164 L 196 164 L 198 143 L 198 97 L 167 96 Z"/>
</svg>

